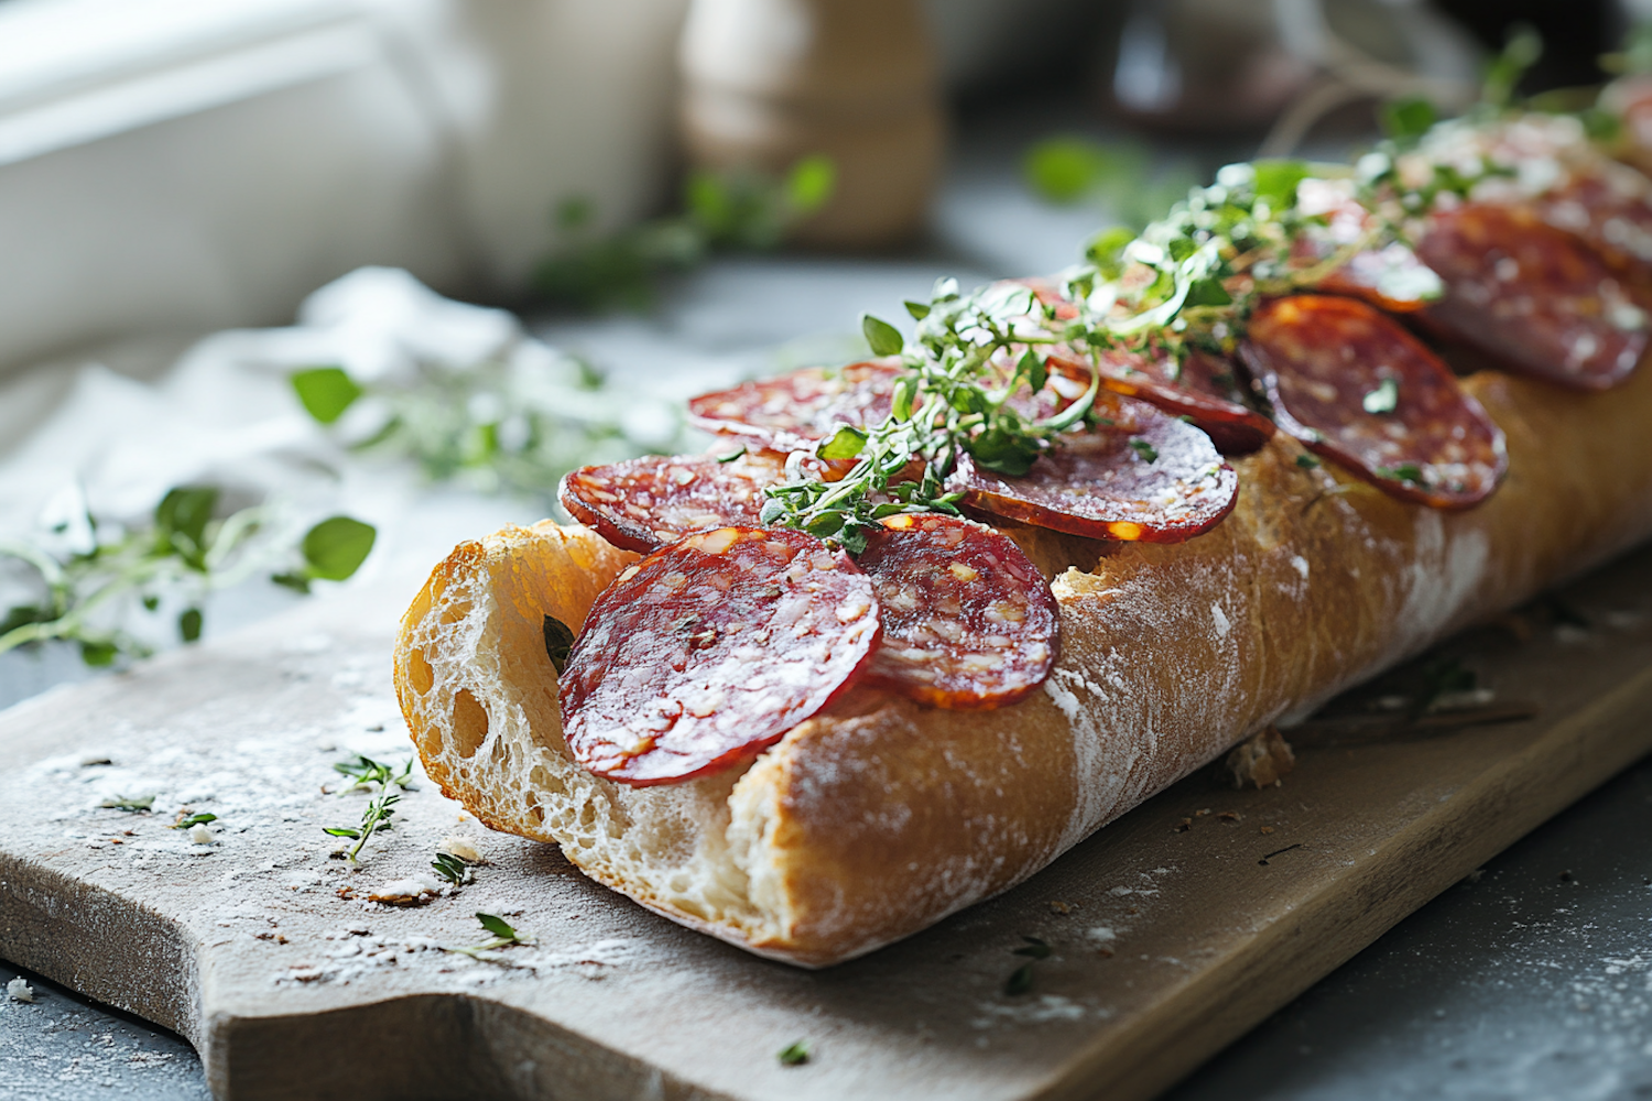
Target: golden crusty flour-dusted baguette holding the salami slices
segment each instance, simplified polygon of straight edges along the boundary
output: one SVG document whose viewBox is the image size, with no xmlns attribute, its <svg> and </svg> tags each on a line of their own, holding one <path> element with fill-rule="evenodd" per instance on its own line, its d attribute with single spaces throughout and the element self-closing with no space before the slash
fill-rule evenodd
<svg viewBox="0 0 1652 1101">
<path fill-rule="evenodd" d="M 1241 497 L 1176 546 L 1004 525 L 1052 579 L 1044 690 L 938 711 L 854 690 L 747 768 L 629 789 L 562 743 L 542 617 L 583 622 L 634 558 L 585 528 L 466 543 L 413 601 L 396 690 L 430 776 L 496 829 L 750 951 L 826 966 L 1032 875 L 1260 726 L 1652 535 L 1652 371 L 1573 393 L 1485 371 L 1465 388 L 1508 479 L 1444 513 L 1284 434 Z"/>
</svg>

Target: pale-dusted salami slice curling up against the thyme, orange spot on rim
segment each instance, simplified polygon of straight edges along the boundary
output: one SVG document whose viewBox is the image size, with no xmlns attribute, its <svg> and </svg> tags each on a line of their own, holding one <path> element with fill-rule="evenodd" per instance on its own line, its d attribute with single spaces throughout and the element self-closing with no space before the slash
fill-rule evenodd
<svg viewBox="0 0 1652 1101">
<path fill-rule="evenodd" d="M 980 512 L 1102 540 L 1180 543 L 1232 512 L 1239 479 L 1209 436 L 1107 391 L 1095 411 L 1102 426 L 1064 436 L 1026 477 L 978 469 L 965 454 L 953 485 Z"/>
</svg>

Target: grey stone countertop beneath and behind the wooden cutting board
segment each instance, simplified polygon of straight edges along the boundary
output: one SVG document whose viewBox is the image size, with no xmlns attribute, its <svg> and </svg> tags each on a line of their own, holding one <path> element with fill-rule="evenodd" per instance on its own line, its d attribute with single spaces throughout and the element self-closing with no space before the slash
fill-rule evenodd
<svg viewBox="0 0 1652 1101">
<path fill-rule="evenodd" d="M 849 355 L 861 310 L 895 320 L 900 299 L 937 276 L 985 281 L 1075 258 L 1095 211 L 1041 206 L 1016 180 L 1019 150 L 1052 129 L 980 127 L 917 254 L 719 261 L 649 317 L 534 328 L 638 381 L 733 380 Z M 68 654 L 8 655 L 0 706 L 79 675 Z M 0 961 L 0 987 L 20 974 Z M 0 995 L 0 1098 L 208 1096 L 182 1038 L 23 977 L 35 1002 Z M 1447 890 L 1166 1096 L 1652 1098 L 1652 761 Z"/>
</svg>

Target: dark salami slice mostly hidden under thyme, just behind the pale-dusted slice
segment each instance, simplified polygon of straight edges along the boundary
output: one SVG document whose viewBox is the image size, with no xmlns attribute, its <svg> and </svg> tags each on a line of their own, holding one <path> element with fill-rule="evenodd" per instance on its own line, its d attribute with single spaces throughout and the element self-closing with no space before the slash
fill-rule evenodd
<svg viewBox="0 0 1652 1101">
<path fill-rule="evenodd" d="M 1070 355 L 1049 357 L 1052 371 L 1089 381 L 1089 366 Z M 1232 366 L 1204 352 L 1193 352 L 1178 365 L 1173 357 L 1148 357 L 1110 350 L 1097 357 L 1102 386 L 1125 398 L 1184 416 L 1229 456 L 1257 451 L 1274 436 L 1274 423 L 1239 401 Z"/>
</svg>

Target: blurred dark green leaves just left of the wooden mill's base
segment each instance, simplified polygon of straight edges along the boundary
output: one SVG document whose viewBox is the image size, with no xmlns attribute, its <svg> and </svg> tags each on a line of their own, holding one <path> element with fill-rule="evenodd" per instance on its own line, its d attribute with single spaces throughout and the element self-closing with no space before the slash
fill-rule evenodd
<svg viewBox="0 0 1652 1101">
<path fill-rule="evenodd" d="M 829 157 L 798 160 L 780 180 L 758 172 L 694 172 L 682 185 L 682 213 L 593 234 L 596 203 L 578 196 L 557 206 L 562 253 L 540 262 L 534 286 L 580 310 L 648 309 L 661 276 L 687 271 L 719 251 L 767 251 L 831 200 L 838 170 Z"/>
</svg>

